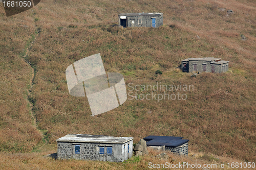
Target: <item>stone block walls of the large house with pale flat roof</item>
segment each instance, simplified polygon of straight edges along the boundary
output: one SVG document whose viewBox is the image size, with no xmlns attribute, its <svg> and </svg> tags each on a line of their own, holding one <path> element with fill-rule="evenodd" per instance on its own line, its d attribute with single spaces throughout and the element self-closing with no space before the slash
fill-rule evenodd
<svg viewBox="0 0 256 170">
<path fill-rule="evenodd" d="M 124 150 L 124 145 L 129 143 L 129 154 Z M 75 154 L 75 145 L 80 145 L 80 154 Z M 124 144 L 113 143 L 76 143 L 58 142 L 58 159 L 81 159 L 81 160 L 100 160 L 110 162 L 122 162 L 133 156 L 133 141 Z M 104 154 L 99 154 L 99 147 L 104 147 Z M 112 147 L 112 155 L 106 154 L 106 147 Z M 131 149 L 132 148 L 132 149 Z"/>
</svg>

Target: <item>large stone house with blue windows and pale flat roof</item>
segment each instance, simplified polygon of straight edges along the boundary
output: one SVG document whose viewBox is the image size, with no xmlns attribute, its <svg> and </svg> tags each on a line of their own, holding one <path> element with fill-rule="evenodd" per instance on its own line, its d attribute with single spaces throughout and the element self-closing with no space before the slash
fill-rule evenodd
<svg viewBox="0 0 256 170">
<path fill-rule="evenodd" d="M 56 141 L 58 159 L 122 162 L 133 156 L 132 137 L 68 134 Z"/>
</svg>

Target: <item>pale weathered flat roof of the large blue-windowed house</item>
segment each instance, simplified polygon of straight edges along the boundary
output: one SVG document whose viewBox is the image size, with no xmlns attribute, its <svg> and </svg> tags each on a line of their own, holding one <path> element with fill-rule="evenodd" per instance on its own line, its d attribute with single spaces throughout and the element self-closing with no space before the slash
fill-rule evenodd
<svg viewBox="0 0 256 170">
<path fill-rule="evenodd" d="M 85 143 L 126 143 L 132 137 L 113 137 L 104 135 L 68 134 L 57 139 L 57 142 L 85 142 Z"/>
</svg>

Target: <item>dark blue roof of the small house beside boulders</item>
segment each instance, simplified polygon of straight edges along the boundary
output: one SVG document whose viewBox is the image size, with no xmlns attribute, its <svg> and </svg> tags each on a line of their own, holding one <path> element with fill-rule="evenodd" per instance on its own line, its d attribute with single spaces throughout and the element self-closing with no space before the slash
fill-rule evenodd
<svg viewBox="0 0 256 170">
<path fill-rule="evenodd" d="M 143 138 L 147 146 L 163 146 L 165 147 L 178 147 L 189 140 L 182 139 L 178 136 L 147 136 Z"/>
</svg>

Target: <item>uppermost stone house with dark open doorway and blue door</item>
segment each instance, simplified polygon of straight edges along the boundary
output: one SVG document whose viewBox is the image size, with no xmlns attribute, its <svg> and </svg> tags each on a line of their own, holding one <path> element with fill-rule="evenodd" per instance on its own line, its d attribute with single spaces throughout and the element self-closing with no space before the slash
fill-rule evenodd
<svg viewBox="0 0 256 170">
<path fill-rule="evenodd" d="M 163 25 L 163 13 L 127 13 L 119 14 L 119 26 L 160 27 Z"/>
</svg>

